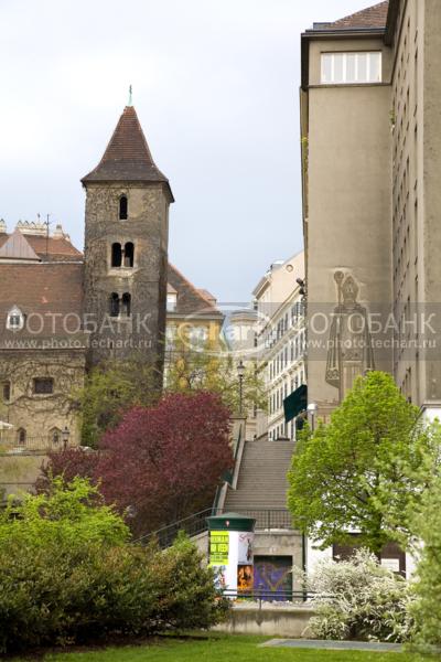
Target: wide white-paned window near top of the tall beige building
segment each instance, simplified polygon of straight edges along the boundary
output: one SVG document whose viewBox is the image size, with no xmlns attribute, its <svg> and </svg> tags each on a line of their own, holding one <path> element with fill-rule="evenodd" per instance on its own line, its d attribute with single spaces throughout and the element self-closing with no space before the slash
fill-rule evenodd
<svg viewBox="0 0 441 662">
<path fill-rule="evenodd" d="M 381 53 L 322 53 L 322 84 L 381 83 Z"/>
</svg>

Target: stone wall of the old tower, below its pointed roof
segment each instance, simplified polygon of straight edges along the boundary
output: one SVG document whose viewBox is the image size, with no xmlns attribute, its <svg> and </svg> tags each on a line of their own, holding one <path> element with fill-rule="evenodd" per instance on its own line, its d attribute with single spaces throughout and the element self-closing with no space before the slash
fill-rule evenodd
<svg viewBox="0 0 441 662">
<path fill-rule="evenodd" d="M 170 196 L 162 183 L 87 183 L 85 312 L 90 333 L 88 360 L 142 354 L 163 363 L 165 332 L 168 215 Z M 119 200 L 128 199 L 128 218 L 119 220 Z M 111 246 L 135 245 L 133 267 L 112 267 Z M 110 317 L 110 297 L 131 296 L 130 316 Z"/>
</svg>

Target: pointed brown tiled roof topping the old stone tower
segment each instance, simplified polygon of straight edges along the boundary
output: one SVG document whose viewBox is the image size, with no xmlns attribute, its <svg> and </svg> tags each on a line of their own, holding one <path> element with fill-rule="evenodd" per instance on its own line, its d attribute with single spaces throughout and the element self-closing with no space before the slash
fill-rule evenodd
<svg viewBox="0 0 441 662">
<path fill-rule="evenodd" d="M 133 106 L 126 106 L 103 159 L 82 182 L 163 182 L 173 200 L 169 180 L 153 161 Z"/>
</svg>

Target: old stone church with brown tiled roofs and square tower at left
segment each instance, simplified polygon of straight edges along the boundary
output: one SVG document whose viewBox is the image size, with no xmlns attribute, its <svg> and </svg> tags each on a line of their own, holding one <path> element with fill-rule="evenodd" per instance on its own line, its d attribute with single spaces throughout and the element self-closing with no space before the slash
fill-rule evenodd
<svg viewBox="0 0 441 662">
<path fill-rule="evenodd" d="M 174 318 L 222 325 L 215 300 L 168 263 L 173 194 L 132 106 L 82 183 L 84 255 L 61 226 L 8 234 L 0 222 L 0 447 L 79 444 L 73 394 L 104 360 L 141 354 L 161 373 L 168 299 Z"/>
</svg>

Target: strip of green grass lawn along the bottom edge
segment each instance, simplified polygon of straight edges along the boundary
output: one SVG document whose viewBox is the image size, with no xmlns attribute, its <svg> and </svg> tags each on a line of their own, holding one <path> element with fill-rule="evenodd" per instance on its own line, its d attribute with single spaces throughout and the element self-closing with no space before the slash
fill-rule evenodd
<svg viewBox="0 0 441 662">
<path fill-rule="evenodd" d="M 207 636 L 192 639 L 164 638 L 150 645 L 118 647 L 94 651 L 51 653 L 44 662 L 422 662 L 441 661 L 409 653 L 321 651 L 258 648 L 269 638 Z M 19 659 L 15 659 L 18 662 Z M 20 660 L 24 660 L 21 658 Z M 41 660 L 41 658 L 40 658 Z"/>
</svg>

